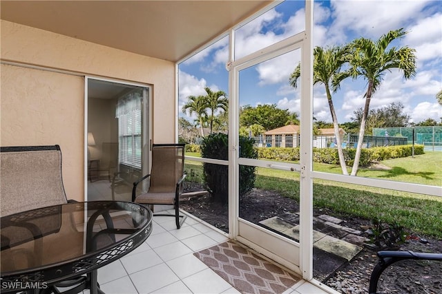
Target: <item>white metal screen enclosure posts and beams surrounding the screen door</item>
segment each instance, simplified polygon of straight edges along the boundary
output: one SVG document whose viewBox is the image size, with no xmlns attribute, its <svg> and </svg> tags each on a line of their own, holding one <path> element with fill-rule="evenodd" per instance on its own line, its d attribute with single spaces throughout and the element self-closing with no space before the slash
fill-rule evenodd
<svg viewBox="0 0 442 294">
<path fill-rule="evenodd" d="M 302 113 L 300 117 L 300 163 L 298 165 L 298 171 L 300 173 L 300 264 L 299 269 L 302 273 L 302 277 L 305 280 L 309 280 L 312 284 L 327 289 L 327 286 L 314 280 L 313 277 L 313 180 L 332 180 L 334 182 L 343 182 L 354 185 L 362 185 L 367 187 L 377 187 L 392 191 L 403 191 L 410 193 L 425 194 L 429 196 L 442 196 L 441 187 L 419 185 L 410 182 L 395 182 L 392 180 L 378 180 L 374 178 L 362 178 L 358 176 L 343 176 L 340 174 L 329 174 L 320 171 L 313 170 L 313 28 L 314 17 L 313 7 L 314 1 L 305 1 L 305 31 L 292 36 L 284 41 L 270 45 L 267 48 L 263 48 L 249 54 L 242 56 L 240 59 L 235 60 L 233 58 L 235 48 L 235 32 L 237 28 L 259 17 L 261 14 L 267 12 L 267 10 L 275 7 L 278 3 L 272 3 L 270 6 L 254 14 L 252 17 L 238 24 L 231 30 L 224 32 L 221 36 L 202 46 L 199 50 L 195 50 L 189 56 L 179 61 L 175 67 L 178 73 L 178 65 L 193 56 L 194 54 L 209 47 L 209 45 L 222 39 L 224 36 L 229 35 L 229 61 L 226 63 L 226 69 L 229 71 L 229 160 L 213 160 L 208 158 L 195 158 L 193 156 L 185 156 L 187 160 L 195 160 L 199 162 L 211 162 L 221 165 L 229 165 L 229 237 L 236 238 L 238 228 L 234 222 L 236 216 L 238 216 L 238 207 L 236 207 L 236 194 L 238 193 L 238 83 L 234 74 L 233 68 L 239 65 L 251 63 L 260 59 L 262 56 L 269 54 L 269 52 L 275 52 L 277 50 L 284 50 L 289 48 L 290 45 L 300 41 L 302 45 L 299 45 L 301 49 L 301 66 L 304 70 L 301 72 L 301 107 Z M 178 103 L 178 83 L 176 83 L 176 103 Z M 176 124 L 177 125 L 177 121 Z M 176 138 L 177 140 L 177 138 Z M 241 164 L 247 164 L 247 160 L 243 159 Z M 287 165 L 288 166 L 288 165 Z M 329 289 L 329 288 L 328 288 Z"/>
</svg>

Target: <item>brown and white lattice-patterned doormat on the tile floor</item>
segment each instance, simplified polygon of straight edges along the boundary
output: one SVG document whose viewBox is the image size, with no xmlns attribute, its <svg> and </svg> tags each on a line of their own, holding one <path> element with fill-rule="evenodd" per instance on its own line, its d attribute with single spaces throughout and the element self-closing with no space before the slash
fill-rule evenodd
<svg viewBox="0 0 442 294">
<path fill-rule="evenodd" d="M 241 293 L 282 293 L 301 279 L 232 241 L 193 254 Z"/>
</svg>

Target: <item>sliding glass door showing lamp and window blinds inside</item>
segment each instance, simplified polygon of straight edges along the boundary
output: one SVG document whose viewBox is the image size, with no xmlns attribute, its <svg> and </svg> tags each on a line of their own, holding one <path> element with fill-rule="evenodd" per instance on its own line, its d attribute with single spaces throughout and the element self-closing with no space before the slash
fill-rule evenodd
<svg viewBox="0 0 442 294">
<path fill-rule="evenodd" d="M 86 78 L 87 199 L 131 200 L 149 168 L 149 87 Z"/>
</svg>

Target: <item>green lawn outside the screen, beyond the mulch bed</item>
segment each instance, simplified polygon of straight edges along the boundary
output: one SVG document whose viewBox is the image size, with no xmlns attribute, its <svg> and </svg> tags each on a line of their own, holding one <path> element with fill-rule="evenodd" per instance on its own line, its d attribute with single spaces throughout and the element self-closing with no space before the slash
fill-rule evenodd
<svg viewBox="0 0 442 294">
<path fill-rule="evenodd" d="M 361 168 L 358 176 L 442 186 L 441 162 L 441 152 L 427 152 L 414 158 L 384 160 L 379 163 L 390 169 Z M 194 171 L 193 180 L 202 179 L 201 162 L 186 160 L 186 170 L 189 169 Z M 335 165 L 315 164 L 314 170 L 340 174 L 340 167 Z M 258 168 L 255 187 L 278 191 L 299 201 L 297 173 Z M 319 179 L 314 180 L 313 193 L 314 207 L 367 220 L 377 218 L 414 233 L 442 238 L 442 197 Z"/>
</svg>

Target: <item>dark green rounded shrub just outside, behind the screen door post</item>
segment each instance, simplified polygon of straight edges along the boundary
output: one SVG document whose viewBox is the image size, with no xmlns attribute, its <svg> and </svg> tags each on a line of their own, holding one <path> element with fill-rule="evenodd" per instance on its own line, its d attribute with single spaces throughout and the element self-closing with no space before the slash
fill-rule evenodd
<svg viewBox="0 0 442 294">
<path fill-rule="evenodd" d="M 213 133 L 206 136 L 201 144 L 203 158 L 229 159 L 229 137 L 227 134 Z M 240 156 L 245 158 L 258 158 L 258 153 L 253 147 L 253 139 L 240 136 Z M 229 167 L 203 163 L 204 182 L 206 189 L 211 193 L 213 200 L 227 203 L 229 200 Z M 255 167 L 240 166 L 240 196 L 250 191 L 255 184 Z"/>
</svg>

